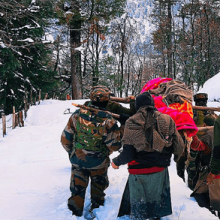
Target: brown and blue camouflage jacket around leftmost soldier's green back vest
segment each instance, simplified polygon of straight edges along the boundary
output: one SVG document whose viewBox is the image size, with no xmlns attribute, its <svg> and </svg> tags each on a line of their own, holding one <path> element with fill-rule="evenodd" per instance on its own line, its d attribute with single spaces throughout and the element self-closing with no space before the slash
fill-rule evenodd
<svg viewBox="0 0 220 220">
<path fill-rule="evenodd" d="M 116 120 L 113 119 L 110 115 L 107 115 L 104 118 L 104 129 L 102 132 L 102 143 L 106 147 L 106 152 L 104 156 L 100 152 L 95 152 L 91 150 L 85 149 L 76 149 L 75 146 L 77 144 L 76 136 L 77 136 L 77 121 L 79 119 L 79 111 L 83 113 L 88 113 L 88 110 L 80 109 L 75 111 L 69 118 L 69 121 L 64 128 L 61 135 L 61 144 L 64 149 L 68 152 L 70 156 L 70 161 L 74 166 L 79 166 L 80 168 L 86 169 L 100 169 L 106 166 L 109 166 L 109 154 L 112 151 L 117 151 L 121 147 L 121 138 L 120 131 L 117 126 Z M 92 117 L 95 117 L 94 112 L 89 112 L 92 114 Z M 93 131 L 91 131 L 93 132 Z M 94 133 L 94 135 L 96 135 Z"/>
</svg>

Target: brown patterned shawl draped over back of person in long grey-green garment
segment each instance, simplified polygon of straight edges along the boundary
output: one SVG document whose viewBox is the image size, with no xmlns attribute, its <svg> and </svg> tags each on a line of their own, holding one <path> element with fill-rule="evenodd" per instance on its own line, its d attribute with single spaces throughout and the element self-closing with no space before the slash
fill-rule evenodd
<svg viewBox="0 0 220 220">
<path fill-rule="evenodd" d="M 158 111 L 152 114 L 147 110 L 149 108 L 151 107 L 141 107 L 135 115 L 127 120 L 122 144 L 133 145 L 137 151 L 144 150 L 147 152 L 162 152 L 164 147 L 172 145 L 174 159 L 178 161 L 183 154 L 185 145 L 176 130 L 173 119 Z M 153 137 L 152 140 L 148 141 L 146 137 L 150 137 L 152 126 L 155 126 Z"/>
</svg>

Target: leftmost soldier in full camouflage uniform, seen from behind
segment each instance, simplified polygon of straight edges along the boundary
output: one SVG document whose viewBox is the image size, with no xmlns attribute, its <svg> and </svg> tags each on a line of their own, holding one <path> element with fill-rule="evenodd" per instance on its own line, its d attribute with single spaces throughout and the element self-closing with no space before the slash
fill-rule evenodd
<svg viewBox="0 0 220 220">
<path fill-rule="evenodd" d="M 89 178 L 91 180 L 91 210 L 104 205 L 104 190 L 108 187 L 109 154 L 121 147 L 120 131 L 115 119 L 106 113 L 109 91 L 91 91 L 90 106 L 98 113 L 75 111 L 62 133 L 61 143 L 72 163 L 68 208 L 73 215 L 82 216 Z"/>
</svg>

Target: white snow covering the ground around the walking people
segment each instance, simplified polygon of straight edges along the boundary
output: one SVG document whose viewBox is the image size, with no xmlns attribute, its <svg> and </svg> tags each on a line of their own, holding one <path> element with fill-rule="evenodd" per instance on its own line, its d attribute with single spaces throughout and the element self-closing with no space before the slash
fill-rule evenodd
<svg viewBox="0 0 220 220">
<path fill-rule="evenodd" d="M 214 84 L 211 83 L 211 87 Z M 220 97 L 220 92 L 216 90 L 216 93 Z M 211 93 L 209 96 L 212 96 Z M 72 102 L 82 104 L 85 100 L 42 101 L 40 105 L 31 106 L 24 127 L 8 129 L 4 138 L 0 134 L 1 220 L 84 219 L 72 216 L 67 208 L 70 162 L 60 144 L 62 130 L 70 117 L 70 114 L 63 113 L 67 108 L 71 112 L 76 109 Z M 209 102 L 208 106 L 219 107 L 220 103 Z M 113 153 L 111 158 L 117 154 Z M 217 220 L 190 197 L 192 191 L 177 176 L 173 161 L 169 173 L 173 214 L 163 220 Z M 127 167 L 121 166 L 119 170 L 110 167 L 108 174 L 110 186 L 106 190 L 105 205 L 95 210 L 97 220 L 117 219 L 128 176 Z M 85 206 L 89 204 L 89 190 L 90 187 Z M 129 220 L 129 217 L 118 219 Z"/>
</svg>

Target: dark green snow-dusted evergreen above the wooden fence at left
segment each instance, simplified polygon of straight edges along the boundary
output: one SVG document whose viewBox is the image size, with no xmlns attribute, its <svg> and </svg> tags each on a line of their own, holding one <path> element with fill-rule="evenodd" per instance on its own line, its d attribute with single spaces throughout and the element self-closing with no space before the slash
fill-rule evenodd
<svg viewBox="0 0 220 220">
<path fill-rule="evenodd" d="M 3 0 L 0 15 L 0 105 L 9 114 L 23 108 L 30 91 L 45 93 L 56 83 L 43 39 L 55 14 L 53 1 Z"/>
</svg>

